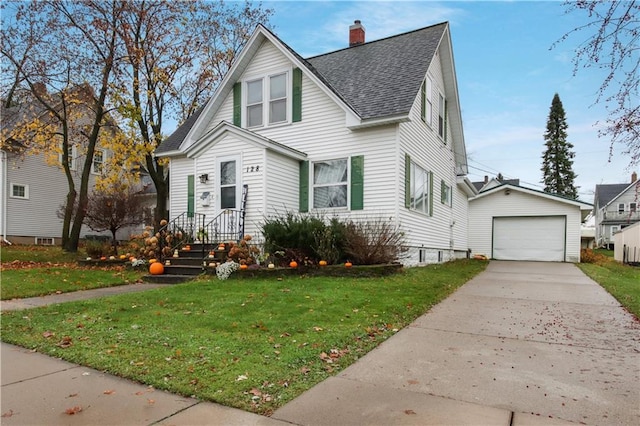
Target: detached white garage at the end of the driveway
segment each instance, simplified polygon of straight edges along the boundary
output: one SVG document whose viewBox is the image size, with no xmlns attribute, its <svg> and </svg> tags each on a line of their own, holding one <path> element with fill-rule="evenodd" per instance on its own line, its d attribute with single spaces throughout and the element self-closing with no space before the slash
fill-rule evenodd
<svg viewBox="0 0 640 426">
<path fill-rule="evenodd" d="M 469 200 L 472 254 L 498 260 L 580 261 L 580 224 L 592 205 L 503 184 Z"/>
</svg>

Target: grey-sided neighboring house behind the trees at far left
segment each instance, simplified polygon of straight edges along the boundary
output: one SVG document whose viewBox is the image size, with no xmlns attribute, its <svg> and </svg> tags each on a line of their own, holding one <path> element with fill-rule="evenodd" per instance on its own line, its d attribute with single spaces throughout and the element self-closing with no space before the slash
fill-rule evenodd
<svg viewBox="0 0 640 426">
<path fill-rule="evenodd" d="M 80 90 L 85 89 L 81 87 Z M 92 96 L 92 92 L 90 93 Z M 38 105 L 34 101 L 12 108 L 2 107 L 0 111 L 3 131 L 0 146 L 0 235 L 4 241 L 14 244 L 57 245 L 61 243 L 63 223 L 58 212 L 69 191 L 66 176 L 60 166 L 62 156 L 58 155 L 56 159 L 56 155 L 51 153 L 25 152 L 25 144 L 12 137 L 13 130 L 23 120 L 44 114 L 44 110 Z M 84 161 L 82 147 L 73 145 L 69 154 L 73 178 L 76 188 L 79 188 L 80 167 Z M 109 150 L 105 148 L 96 149 L 89 178 L 91 187 L 109 155 Z M 60 163 L 53 164 L 56 160 Z M 135 230 L 138 231 L 137 228 Z M 125 232 L 128 231 L 123 230 L 119 238 L 128 239 L 129 234 Z M 97 233 L 83 226 L 80 236 L 83 238 L 95 234 L 110 235 L 108 232 Z"/>
</svg>

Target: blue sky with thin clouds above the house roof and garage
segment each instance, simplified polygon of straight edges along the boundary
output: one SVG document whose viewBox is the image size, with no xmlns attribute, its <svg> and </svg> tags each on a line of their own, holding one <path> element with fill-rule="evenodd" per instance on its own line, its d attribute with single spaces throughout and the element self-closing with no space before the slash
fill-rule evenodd
<svg viewBox="0 0 640 426">
<path fill-rule="evenodd" d="M 593 202 L 600 183 L 630 182 L 629 158 L 600 139 L 595 123 L 606 118 L 593 105 L 603 74 L 573 75 L 573 49 L 586 34 L 555 48 L 563 34 L 586 22 L 565 13 L 561 2 L 487 1 L 267 1 L 275 10 L 275 33 L 303 57 L 347 47 L 348 28 L 362 21 L 366 41 L 424 28 L 451 25 L 462 108 L 469 178 L 498 172 L 521 185 L 542 189 L 542 152 L 553 95 L 564 105 L 568 141 L 576 153 L 580 199 Z"/>
</svg>

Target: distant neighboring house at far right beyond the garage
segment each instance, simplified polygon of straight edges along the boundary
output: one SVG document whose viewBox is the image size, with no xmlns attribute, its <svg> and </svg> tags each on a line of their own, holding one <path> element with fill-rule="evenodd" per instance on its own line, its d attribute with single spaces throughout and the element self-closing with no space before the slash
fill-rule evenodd
<svg viewBox="0 0 640 426">
<path fill-rule="evenodd" d="M 616 232 L 640 222 L 638 204 L 640 181 L 637 173 L 631 175 L 631 183 L 596 185 L 594 196 L 596 246 L 613 246 Z"/>
</svg>

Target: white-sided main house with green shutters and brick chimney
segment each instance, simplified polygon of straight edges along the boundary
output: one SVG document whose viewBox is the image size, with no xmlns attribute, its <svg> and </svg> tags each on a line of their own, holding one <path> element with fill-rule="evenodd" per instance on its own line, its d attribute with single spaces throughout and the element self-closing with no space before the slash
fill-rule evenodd
<svg viewBox="0 0 640 426">
<path fill-rule="evenodd" d="M 349 36 L 305 59 L 257 27 L 215 95 L 155 152 L 171 162 L 170 219 L 244 210 L 233 229 L 259 236 L 286 212 L 384 218 L 405 233 L 405 264 L 468 255 L 477 192 L 449 24 L 365 43 L 356 21 Z"/>
</svg>

